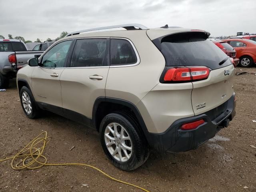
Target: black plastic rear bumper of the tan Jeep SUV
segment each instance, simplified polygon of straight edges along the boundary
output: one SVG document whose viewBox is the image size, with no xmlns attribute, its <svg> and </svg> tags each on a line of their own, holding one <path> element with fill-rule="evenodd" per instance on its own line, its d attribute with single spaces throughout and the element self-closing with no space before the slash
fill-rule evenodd
<svg viewBox="0 0 256 192">
<path fill-rule="evenodd" d="M 158 152 L 182 152 L 197 148 L 213 138 L 221 128 L 227 127 L 228 122 L 234 118 L 236 114 L 234 98 L 235 94 L 222 104 L 222 108 L 225 106 L 225 111 L 217 117 L 216 112 L 220 106 L 198 116 L 177 120 L 164 133 L 149 133 L 147 137 L 149 145 Z M 198 128 L 186 131 L 180 129 L 182 124 L 200 119 L 205 123 Z"/>
</svg>

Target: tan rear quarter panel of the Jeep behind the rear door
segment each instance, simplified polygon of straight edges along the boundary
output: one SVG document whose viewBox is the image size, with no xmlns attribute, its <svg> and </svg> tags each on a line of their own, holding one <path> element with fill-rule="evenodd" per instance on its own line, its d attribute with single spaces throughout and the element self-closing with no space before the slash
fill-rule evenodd
<svg viewBox="0 0 256 192">
<path fill-rule="evenodd" d="M 146 35 L 145 30 L 126 34 L 140 57 L 136 66 L 110 67 L 106 82 L 106 97 L 127 100 L 136 105 L 159 83 L 165 67 L 165 59 Z"/>
</svg>

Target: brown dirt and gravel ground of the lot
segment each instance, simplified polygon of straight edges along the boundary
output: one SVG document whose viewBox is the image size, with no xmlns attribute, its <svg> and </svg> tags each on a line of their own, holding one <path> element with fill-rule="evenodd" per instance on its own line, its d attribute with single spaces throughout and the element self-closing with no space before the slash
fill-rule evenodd
<svg viewBox="0 0 256 192">
<path fill-rule="evenodd" d="M 242 70 L 241 70 L 242 69 Z M 256 67 L 237 72 L 256 73 Z M 0 159 L 16 154 L 43 130 L 52 136 L 46 147 L 49 163 L 91 164 L 111 176 L 151 192 L 256 192 L 256 75 L 235 76 L 236 117 L 197 150 L 177 154 L 152 152 L 137 170 L 124 172 L 106 158 L 95 130 L 45 112 L 36 120 L 26 118 L 15 80 L 0 92 Z M 75 146 L 73 150 L 69 150 Z M 89 188 L 82 187 L 88 184 Z M 248 188 L 246 188 L 246 187 Z M 114 182 L 91 168 L 43 166 L 37 170 L 12 170 L 0 163 L 1 192 L 107 192 L 141 191 Z"/>
</svg>

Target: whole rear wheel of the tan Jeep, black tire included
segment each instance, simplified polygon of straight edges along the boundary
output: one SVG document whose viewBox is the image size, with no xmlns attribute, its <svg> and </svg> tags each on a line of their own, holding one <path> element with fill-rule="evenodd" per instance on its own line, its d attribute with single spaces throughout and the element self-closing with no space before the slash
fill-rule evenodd
<svg viewBox="0 0 256 192">
<path fill-rule="evenodd" d="M 113 132 L 115 126 L 119 135 L 123 129 L 123 136 L 126 137 L 126 140 L 119 139 L 118 134 L 115 135 Z M 126 112 L 113 112 L 102 119 L 100 141 L 106 156 L 112 164 L 124 171 L 138 168 L 146 162 L 150 154 L 148 143 L 138 123 Z M 112 144 L 107 147 L 109 143 Z M 122 158 L 120 158 L 120 154 Z"/>
</svg>

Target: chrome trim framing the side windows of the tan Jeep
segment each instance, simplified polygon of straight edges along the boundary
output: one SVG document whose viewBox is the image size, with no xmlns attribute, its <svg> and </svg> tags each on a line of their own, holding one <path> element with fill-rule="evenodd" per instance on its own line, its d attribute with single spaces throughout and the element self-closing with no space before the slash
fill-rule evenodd
<svg viewBox="0 0 256 192">
<path fill-rule="evenodd" d="M 74 39 L 106 39 L 106 38 L 110 38 L 110 40 L 111 39 L 124 39 L 124 40 L 127 40 L 128 42 L 130 42 L 130 44 L 132 45 L 132 48 L 133 48 L 133 50 L 134 50 L 134 52 L 135 52 L 135 55 L 136 55 L 136 58 L 137 58 L 137 62 L 136 63 L 134 63 L 134 64 L 127 64 L 127 65 L 113 65 L 113 66 L 92 66 L 92 67 L 56 67 L 56 68 L 49 68 L 49 67 L 44 67 L 44 66 L 38 66 L 38 67 L 40 67 L 40 68 L 45 68 L 45 69 L 85 69 L 85 68 L 116 68 L 116 67 L 131 67 L 131 66 L 136 66 L 136 65 L 138 65 L 138 64 L 140 64 L 140 56 L 139 56 L 139 54 L 138 54 L 138 51 L 137 51 L 137 49 L 136 49 L 136 47 L 134 46 L 134 44 L 132 43 L 132 41 L 130 40 L 130 39 L 128 39 L 128 38 L 123 38 L 123 37 L 80 37 L 80 38 L 69 38 L 69 39 L 65 39 L 65 40 L 62 40 L 62 41 L 60 41 L 60 42 L 58 42 L 58 43 L 54 43 L 53 45 L 55 46 L 55 45 L 57 45 L 57 44 L 59 44 L 59 43 L 61 43 L 61 42 L 64 42 L 64 41 L 67 41 L 67 40 L 74 40 Z M 53 47 L 53 46 L 51 46 L 51 47 Z M 49 47 L 50 48 L 50 47 Z M 50 49 L 49 49 L 50 50 Z M 47 50 L 47 52 L 48 52 L 48 50 Z M 44 52 L 43 54 L 42 54 L 42 56 L 40 56 L 40 59 L 42 59 L 43 58 L 43 56 L 47 53 L 47 52 Z"/>
</svg>

